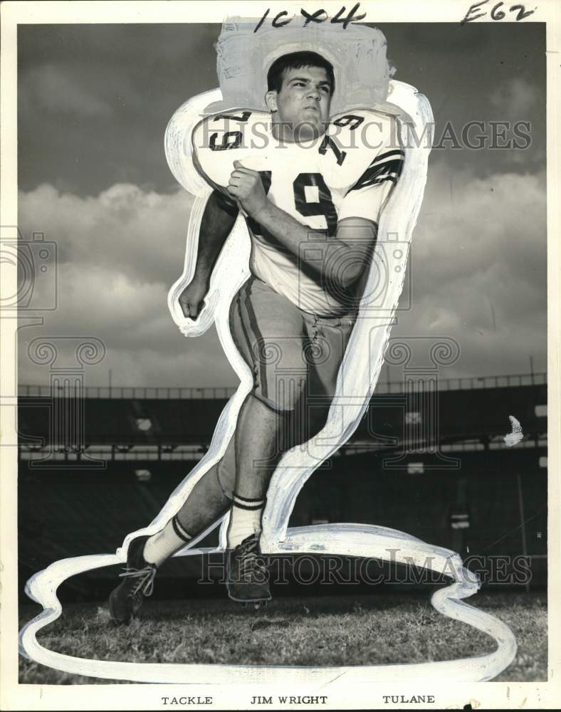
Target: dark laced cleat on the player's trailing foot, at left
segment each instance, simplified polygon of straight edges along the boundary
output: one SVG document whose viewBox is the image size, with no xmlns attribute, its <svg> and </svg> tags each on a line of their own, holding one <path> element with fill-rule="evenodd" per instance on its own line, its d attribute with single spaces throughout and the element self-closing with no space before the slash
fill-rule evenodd
<svg viewBox="0 0 561 712">
<path fill-rule="evenodd" d="M 109 597 L 109 612 L 115 623 L 130 623 L 142 608 L 145 597 L 152 595 L 157 566 L 150 564 L 143 555 L 147 536 L 133 539 L 127 553 L 124 580 L 112 590 Z"/>
</svg>

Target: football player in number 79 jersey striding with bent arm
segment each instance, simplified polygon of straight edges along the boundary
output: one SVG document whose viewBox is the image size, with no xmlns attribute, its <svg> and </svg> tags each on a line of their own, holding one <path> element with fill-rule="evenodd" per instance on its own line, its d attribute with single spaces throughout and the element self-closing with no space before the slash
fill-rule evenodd
<svg viewBox="0 0 561 712">
<path fill-rule="evenodd" d="M 270 114 L 235 110 L 206 117 L 194 130 L 194 164 L 214 191 L 194 278 L 179 302 L 186 317 L 198 318 L 216 259 L 243 211 L 251 276 L 231 304 L 230 327 L 253 389 L 224 458 L 164 529 L 132 541 L 110 597 L 116 622 L 138 612 L 168 557 L 229 510 L 229 595 L 243 602 L 271 597 L 259 556 L 268 483 L 282 454 L 325 424 L 379 213 L 404 159 L 392 115 L 353 110 L 330 122 L 334 90 L 325 58 L 292 53 L 268 70 Z"/>
</svg>

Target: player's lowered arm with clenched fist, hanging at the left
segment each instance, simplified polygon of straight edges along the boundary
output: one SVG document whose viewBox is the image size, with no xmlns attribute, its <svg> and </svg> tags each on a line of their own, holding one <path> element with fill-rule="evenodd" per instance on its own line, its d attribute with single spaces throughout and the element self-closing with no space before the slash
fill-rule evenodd
<svg viewBox="0 0 561 712">
<path fill-rule="evenodd" d="M 237 206 L 214 190 L 204 206 L 195 273 L 192 281 L 179 295 L 179 305 L 184 316 L 196 319 L 201 313 L 214 265 L 237 216 Z"/>
</svg>

